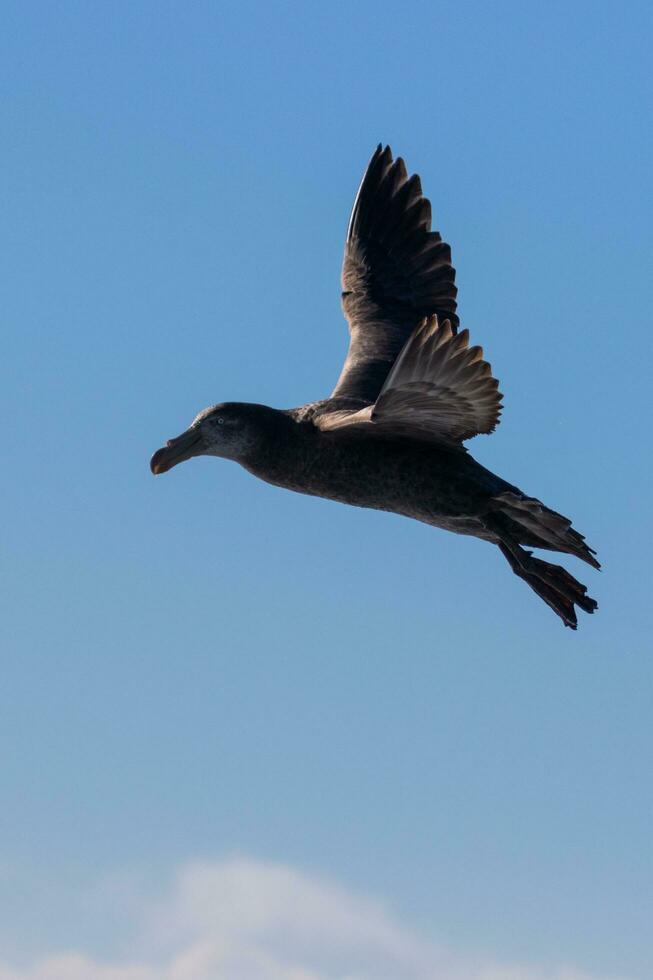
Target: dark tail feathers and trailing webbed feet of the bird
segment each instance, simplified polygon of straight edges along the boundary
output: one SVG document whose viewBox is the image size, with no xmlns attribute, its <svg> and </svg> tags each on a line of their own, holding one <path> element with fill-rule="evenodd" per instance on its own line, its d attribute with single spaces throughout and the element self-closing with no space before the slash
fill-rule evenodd
<svg viewBox="0 0 653 980">
<path fill-rule="evenodd" d="M 499 548 L 515 575 L 522 578 L 553 611 L 565 626 L 576 629 L 575 606 L 587 613 L 597 608 L 597 602 L 587 595 L 587 588 L 561 565 L 534 558 L 523 544 L 551 551 L 562 551 L 581 558 L 594 568 L 600 568 L 582 534 L 575 531 L 571 521 L 545 507 L 533 497 L 502 493 L 493 500 L 494 512 L 489 525 L 499 538 Z"/>
</svg>

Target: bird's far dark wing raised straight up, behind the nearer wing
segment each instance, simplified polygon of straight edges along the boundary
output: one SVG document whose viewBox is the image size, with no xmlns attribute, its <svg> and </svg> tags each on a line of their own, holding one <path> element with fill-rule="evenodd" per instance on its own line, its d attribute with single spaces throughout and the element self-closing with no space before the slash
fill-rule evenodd
<svg viewBox="0 0 653 980">
<path fill-rule="evenodd" d="M 447 318 L 455 332 L 451 250 L 431 231 L 431 205 L 389 146 L 376 149 L 349 220 L 342 304 L 349 321 L 347 360 L 333 398 L 375 401 L 420 321 Z"/>
</svg>

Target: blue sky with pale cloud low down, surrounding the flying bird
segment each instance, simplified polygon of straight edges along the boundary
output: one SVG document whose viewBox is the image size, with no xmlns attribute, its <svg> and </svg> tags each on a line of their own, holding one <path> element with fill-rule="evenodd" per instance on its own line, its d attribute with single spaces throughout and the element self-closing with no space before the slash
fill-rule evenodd
<svg viewBox="0 0 653 980">
<path fill-rule="evenodd" d="M 651 976 L 651 19 L 5 3 L 2 980 L 172 978 L 194 943 L 250 959 L 174 980 L 379 980 L 386 947 L 391 980 Z M 576 634 L 481 542 L 149 473 L 205 405 L 329 393 L 381 140 L 501 380 L 472 452 L 604 563 L 566 562 Z"/>
</svg>

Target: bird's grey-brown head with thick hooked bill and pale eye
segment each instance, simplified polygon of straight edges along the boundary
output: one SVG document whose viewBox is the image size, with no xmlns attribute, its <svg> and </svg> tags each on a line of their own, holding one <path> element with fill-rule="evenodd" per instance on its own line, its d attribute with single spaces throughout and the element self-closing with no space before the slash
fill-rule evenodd
<svg viewBox="0 0 653 980">
<path fill-rule="evenodd" d="M 166 473 L 192 456 L 222 456 L 245 462 L 270 438 L 275 421 L 283 416 L 276 409 L 246 402 L 224 402 L 199 413 L 175 439 L 169 439 L 150 460 L 155 476 Z"/>
</svg>

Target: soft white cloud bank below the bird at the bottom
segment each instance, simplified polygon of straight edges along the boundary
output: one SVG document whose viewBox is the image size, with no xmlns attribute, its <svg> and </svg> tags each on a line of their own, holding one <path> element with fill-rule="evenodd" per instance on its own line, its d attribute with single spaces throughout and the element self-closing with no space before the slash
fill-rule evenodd
<svg viewBox="0 0 653 980">
<path fill-rule="evenodd" d="M 188 864 L 139 915 L 120 962 L 69 951 L 0 962 L 0 980 L 608 980 L 457 955 L 376 900 L 253 860 Z"/>
</svg>

